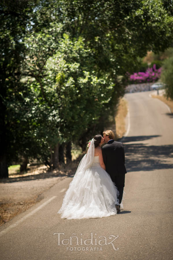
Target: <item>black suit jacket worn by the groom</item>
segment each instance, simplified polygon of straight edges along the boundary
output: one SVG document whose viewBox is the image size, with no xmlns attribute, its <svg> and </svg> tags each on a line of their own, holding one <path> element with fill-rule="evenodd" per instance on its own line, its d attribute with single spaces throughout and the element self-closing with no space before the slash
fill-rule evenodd
<svg viewBox="0 0 173 260">
<path fill-rule="evenodd" d="M 102 147 L 103 161 L 111 179 L 127 173 L 125 167 L 124 146 L 120 142 L 110 140 Z"/>
</svg>

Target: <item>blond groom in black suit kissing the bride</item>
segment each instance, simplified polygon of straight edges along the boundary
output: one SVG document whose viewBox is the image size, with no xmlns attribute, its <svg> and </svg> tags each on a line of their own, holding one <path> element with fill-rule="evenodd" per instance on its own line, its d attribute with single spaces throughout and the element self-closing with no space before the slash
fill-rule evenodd
<svg viewBox="0 0 173 260">
<path fill-rule="evenodd" d="M 118 199 L 121 204 L 122 194 L 125 181 L 125 155 L 124 147 L 120 142 L 114 141 L 114 133 L 111 130 L 103 132 L 103 140 L 105 144 L 102 147 L 103 161 L 106 166 L 106 171 L 110 175 L 112 181 L 115 183 L 120 192 Z M 117 213 L 120 212 L 120 205 L 116 205 Z"/>
</svg>

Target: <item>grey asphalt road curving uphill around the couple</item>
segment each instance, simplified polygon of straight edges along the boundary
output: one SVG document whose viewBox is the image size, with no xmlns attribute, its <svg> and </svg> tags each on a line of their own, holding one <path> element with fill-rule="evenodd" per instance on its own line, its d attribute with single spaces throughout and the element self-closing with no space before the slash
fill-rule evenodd
<svg viewBox="0 0 173 260">
<path fill-rule="evenodd" d="M 151 93 L 125 96 L 124 210 L 107 218 L 62 220 L 57 211 L 72 180 L 66 178 L 0 227 L 1 259 L 173 259 L 173 115 Z"/>
</svg>

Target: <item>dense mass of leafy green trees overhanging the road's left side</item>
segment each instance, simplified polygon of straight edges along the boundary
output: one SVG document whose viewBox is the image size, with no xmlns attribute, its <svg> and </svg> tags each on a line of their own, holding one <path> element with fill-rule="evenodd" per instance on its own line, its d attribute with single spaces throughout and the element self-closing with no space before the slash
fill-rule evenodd
<svg viewBox="0 0 173 260">
<path fill-rule="evenodd" d="M 23 153 L 47 157 L 77 133 L 94 133 L 137 57 L 164 50 L 173 35 L 171 13 L 157 0 L 14 0 L 0 13 L 0 177 Z"/>
</svg>

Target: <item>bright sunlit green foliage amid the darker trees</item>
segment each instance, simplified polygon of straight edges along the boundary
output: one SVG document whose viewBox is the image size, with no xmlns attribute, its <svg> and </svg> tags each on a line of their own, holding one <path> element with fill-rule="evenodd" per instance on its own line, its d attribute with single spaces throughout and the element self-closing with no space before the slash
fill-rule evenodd
<svg viewBox="0 0 173 260">
<path fill-rule="evenodd" d="M 43 35 L 41 38 L 44 40 Z M 39 53 L 39 46 L 34 43 L 34 38 L 30 38 L 29 42 L 30 48 L 33 48 L 32 43 L 35 53 Z M 32 66 L 39 68 L 40 64 L 34 64 L 33 58 L 27 56 L 26 70 L 36 79 L 36 93 L 40 92 L 40 101 L 49 106 L 46 108 L 47 112 L 45 111 L 48 115 L 47 126 L 44 125 L 48 133 L 51 129 L 49 144 L 76 140 L 88 125 L 98 121 L 103 109 L 110 106 L 114 97 L 114 83 L 109 74 L 97 77 L 94 70 L 85 70 L 90 62 L 90 55 L 91 51 L 89 48 L 85 49 L 82 38 L 72 41 L 64 34 L 63 38 L 59 39 L 56 54 L 44 62 L 40 75 L 35 69 L 32 70 Z"/>
</svg>

